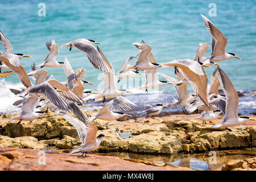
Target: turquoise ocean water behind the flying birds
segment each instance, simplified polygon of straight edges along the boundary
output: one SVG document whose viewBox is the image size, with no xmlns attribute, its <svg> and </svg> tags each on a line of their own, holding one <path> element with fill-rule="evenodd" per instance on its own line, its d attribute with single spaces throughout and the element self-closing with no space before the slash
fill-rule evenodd
<svg viewBox="0 0 256 182">
<path fill-rule="evenodd" d="M 39 16 L 39 3 L 46 5 L 46 16 Z M 40 64 L 48 54 L 46 42 L 55 39 L 60 46 L 71 40 L 86 38 L 100 42 L 99 46 L 112 63 L 115 72 L 123 61 L 137 55 L 133 42 L 150 44 L 152 53 L 159 63 L 175 59 L 191 59 L 200 42 L 210 46 L 210 35 L 200 14 L 207 16 L 226 36 L 226 52 L 235 53 L 242 60 L 230 59 L 219 62 L 237 90 L 250 92 L 256 89 L 256 2 L 216 1 L 216 15 L 209 16 L 212 1 L 0 1 L 0 30 L 10 40 L 14 53 L 24 53 L 31 58 L 20 60 L 20 64 L 30 71 L 32 63 Z M 95 85 L 87 89 L 101 88 L 101 71 L 94 69 L 85 54 L 76 48 L 59 48 L 58 61 L 66 56 L 73 69 L 84 67 L 85 80 Z M 0 45 L 0 50 L 3 47 Z M 206 55 L 209 55 L 209 48 Z M 131 64 L 135 61 L 131 60 Z M 206 68 L 209 77 L 216 67 Z M 63 67 L 44 68 L 53 78 L 64 81 Z M 158 72 L 175 76 L 174 68 L 159 68 Z M 144 77 L 139 76 L 139 84 Z M 164 80 L 162 78 L 162 80 Z M 9 112 L 8 106 L 15 100 L 6 92 L 11 86 L 18 86 L 14 74 L 0 78 L 0 112 Z M 119 88 L 129 88 L 136 93 L 138 84 L 127 85 L 123 79 Z M 189 88 L 191 90 L 191 88 Z M 149 92 L 166 92 L 175 95 L 174 86 L 162 86 Z M 10 98 L 10 99 L 9 99 Z M 135 98 L 135 97 L 134 97 Z M 10 102 L 10 103 L 9 103 Z M 248 97 L 248 108 L 255 111 L 255 97 Z M 145 102 L 146 103 L 146 102 Z M 247 106 L 246 106 L 247 107 Z M 245 108 L 246 108 L 245 107 Z"/>
</svg>

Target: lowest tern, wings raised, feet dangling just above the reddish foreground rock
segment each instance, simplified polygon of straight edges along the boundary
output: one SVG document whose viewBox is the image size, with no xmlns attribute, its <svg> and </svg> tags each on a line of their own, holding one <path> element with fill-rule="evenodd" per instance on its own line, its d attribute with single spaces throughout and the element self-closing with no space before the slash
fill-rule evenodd
<svg viewBox="0 0 256 182">
<path fill-rule="evenodd" d="M 65 113 L 62 115 L 69 123 L 71 123 L 71 125 L 76 127 L 77 134 L 82 142 L 81 147 L 74 148 L 71 152 L 69 152 L 69 154 L 82 152 L 82 156 L 84 154 L 86 156 L 87 152 L 93 151 L 100 146 L 101 140 L 105 137 L 105 135 L 100 134 L 96 138 L 98 128 L 94 121 L 84 123 L 76 118 L 73 118 L 71 115 Z"/>
</svg>

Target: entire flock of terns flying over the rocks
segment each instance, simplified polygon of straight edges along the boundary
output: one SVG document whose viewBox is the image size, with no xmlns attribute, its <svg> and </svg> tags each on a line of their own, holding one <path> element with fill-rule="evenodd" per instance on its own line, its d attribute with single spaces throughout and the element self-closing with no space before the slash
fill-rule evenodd
<svg viewBox="0 0 256 182">
<path fill-rule="evenodd" d="M 215 63 L 216 61 L 232 58 L 240 59 L 240 57 L 237 57 L 234 53 L 225 52 L 227 39 L 209 19 L 203 15 L 201 16 L 212 38 L 212 53 L 208 57 L 205 57 L 205 52 L 209 48 L 208 44 L 200 43 L 193 59 L 177 59 L 168 63 L 158 64 L 151 53 L 152 48 L 142 40 L 141 43 L 133 43 L 139 50 L 138 55 L 129 57 L 115 76 L 112 64 L 106 59 L 104 53 L 102 53 L 98 46 L 97 48 L 94 47 L 94 44 L 100 43 L 89 39 L 76 39 L 60 46 L 69 47 L 69 51 L 72 50 L 72 47 L 80 49 L 96 69 L 104 72 L 102 78 L 104 90 L 102 93 L 84 89 L 85 85 L 92 84 L 84 80 L 85 68 L 81 67 L 74 71 L 66 57 L 64 62 L 56 61 L 55 56 L 59 52 L 59 48 L 54 40 L 46 43 L 49 54 L 44 62 L 38 66 L 33 64 L 32 71 L 26 73 L 24 67 L 20 65 L 19 59 L 30 56 L 12 53 L 13 47 L 0 31 L 0 40 L 5 48 L 5 52 L 0 53 L 0 72 L 1 70 L 11 70 L 1 72 L 0 76 L 7 77 L 16 73 L 19 80 L 25 86 L 25 88 L 20 88 L 20 90 L 10 89 L 11 92 L 22 97 L 22 99 L 13 104 L 21 107 L 22 112 L 18 117 L 12 117 L 10 122 L 19 121 L 18 123 L 20 123 L 22 120 L 31 121 L 37 119 L 44 114 L 48 114 L 48 108 L 51 107 L 55 115 L 61 114 L 77 129 L 82 145 L 73 149 L 70 153 L 82 152 L 82 155 L 85 153 L 86 156 L 86 152 L 95 150 L 100 145 L 102 138 L 108 137 L 102 134 L 97 136 L 98 129 L 94 119 L 112 121 L 123 116 L 131 116 L 123 112 L 138 107 L 133 102 L 122 97 L 123 94 L 129 93 L 129 91 L 118 90 L 117 82 L 123 78 L 145 75 L 146 82 L 140 89 L 146 89 L 146 92 L 147 89 L 167 84 L 175 86 L 178 98 L 174 98 L 174 102 L 170 107 L 182 107 L 183 111 L 187 113 L 201 110 L 202 112 L 199 118 L 203 120 L 203 123 L 217 118 L 220 113 L 224 113 L 225 117 L 222 121 L 213 125 L 213 127 L 241 125 L 250 118 L 238 117 L 239 99 L 236 89 L 225 72 L 220 68 L 220 65 Z M 135 64 L 130 65 L 131 59 L 137 57 L 138 60 L 135 61 Z M 217 65 L 218 67 L 213 72 L 210 86 L 208 86 L 208 78 L 205 74 L 204 67 L 210 67 L 212 65 Z M 53 79 L 52 75 L 48 76 L 48 71 L 38 69 L 37 67 L 64 67 L 67 81 L 59 82 Z M 159 67 L 174 67 L 176 78 L 158 73 L 157 69 Z M 144 74 L 138 71 L 144 71 Z M 167 81 L 159 81 L 158 75 L 166 78 Z M 34 80 L 34 85 L 28 76 Z M 192 86 L 194 93 L 187 92 L 187 85 L 189 84 Z M 220 85 L 225 95 L 218 94 Z M 81 107 L 86 107 L 83 103 L 88 98 L 94 98 L 95 101 L 102 102 L 106 102 L 106 98 L 113 99 L 102 107 L 96 115 L 85 116 L 81 111 Z M 159 114 L 163 107 L 168 106 L 156 104 L 145 111 L 146 116 Z M 69 113 L 73 113 L 76 118 L 72 117 Z"/>
</svg>

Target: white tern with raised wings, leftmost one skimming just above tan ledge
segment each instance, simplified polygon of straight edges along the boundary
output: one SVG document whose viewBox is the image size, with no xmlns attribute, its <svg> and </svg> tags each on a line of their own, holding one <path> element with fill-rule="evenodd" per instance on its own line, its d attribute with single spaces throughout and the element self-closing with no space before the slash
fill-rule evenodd
<svg viewBox="0 0 256 182">
<path fill-rule="evenodd" d="M 36 110 L 36 103 L 39 101 L 38 95 L 30 93 L 26 102 L 22 106 L 22 112 L 18 117 L 12 117 L 10 122 L 19 120 L 18 124 L 22 121 L 30 121 L 39 118 L 43 114 L 48 114 L 47 111 Z"/>
</svg>

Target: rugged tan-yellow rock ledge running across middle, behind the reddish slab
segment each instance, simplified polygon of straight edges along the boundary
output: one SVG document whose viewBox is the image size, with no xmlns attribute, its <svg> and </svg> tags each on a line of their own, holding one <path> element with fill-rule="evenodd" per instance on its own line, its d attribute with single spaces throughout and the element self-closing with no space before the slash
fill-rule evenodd
<svg viewBox="0 0 256 182">
<path fill-rule="evenodd" d="M 84 111 L 95 114 L 95 111 Z M 130 151 L 150 154 L 205 152 L 256 146 L 256 126 L 212 129 L 212 123 L 202 124 L 194 115 L 167 115 L 144 119 L 121 118 L 120 121 L 96 119 L 98 134 L 104 138 L 99 151 Z M 72 149 L 81 141 L 75 127 L 53 113 L 34 121 L 9 123 L 11 115 L 0 117 L 0 147 L 35 148 L 38 150 Z M 251 117 L 251 116 L 250 116 Z M 256 117 L 254 117 L 256 118 Z M 222 117 L 213 123 L 220 122 Z"/>
</svg>

